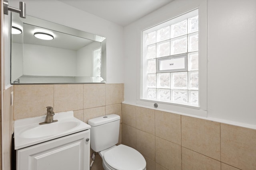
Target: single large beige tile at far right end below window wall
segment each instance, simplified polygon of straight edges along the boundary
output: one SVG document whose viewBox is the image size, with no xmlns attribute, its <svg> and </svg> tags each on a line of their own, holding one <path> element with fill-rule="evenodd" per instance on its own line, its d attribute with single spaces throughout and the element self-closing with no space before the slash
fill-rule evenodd
<svg viewBox="0 0 256 170">
<path fill-rule="evenodd" d="M 256 130 L 221 124 L 222 162 L 243 170 L 256 169 Z"/>
</svg>

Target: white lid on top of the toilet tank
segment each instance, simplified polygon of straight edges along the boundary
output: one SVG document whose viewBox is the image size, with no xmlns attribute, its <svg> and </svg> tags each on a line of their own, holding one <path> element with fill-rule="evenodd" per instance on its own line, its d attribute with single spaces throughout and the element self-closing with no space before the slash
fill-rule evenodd
<svg viewBox="0 0 256 170">
<path fill-rule="evenodd" d="M 112 121 L 117 121 L 117 120 L 120 120 L 120 116 L 116 114 L 112 114 L 112 115 L 105 115 L 105 116 L 89 119 L 88 124 L 91 126 L 98 126 L 98 125 L 103 125 L 103 124 L 110 123 Z"/>
</svg>

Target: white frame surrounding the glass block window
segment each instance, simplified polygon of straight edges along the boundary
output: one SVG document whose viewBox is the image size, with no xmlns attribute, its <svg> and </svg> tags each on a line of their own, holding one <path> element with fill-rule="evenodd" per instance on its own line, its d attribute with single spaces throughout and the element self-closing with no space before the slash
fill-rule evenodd
<svg viewBox="0 0 256 170">
<path fill-rule="evenodd" d="M 185 3 L 185 2 L 177 2 L 177 3 Z M 169 103 L 169 102 L 162 102 L 160 100 L 149 100 L 149 99 L 142 99 L 142 93 L 143 93 L 143 88 L 142 86 L 142 72 L 145 68 L 142 67 L 143 60 L 142 60 L 142 31 L 145 29 L 150 28 L 150 25 L 148 27 L 141 27 L 141 29 L 138 29 L 138 35 L 139 41 L 140 41 L 140 50 L 138 50 L 138 74 L 137 77 L 137 100 L 136 104 L 139 106 L 144 106 L 144 107 L 153 107 L 154 103 L 158 104 L 158 110 L 163 110 L 163 111 L 168 111 L 172 113 L 185 113 L 185 114 L 192 114 L 192 115 L 199 115 L 199 116 L 204 116 L 207 117 L 207 1 L 206 0 L 197 0 L 196 2 L 193 2 L 191 4 L 186 4 L 186 5 L 181 5 L 180 8 L 176 8 L 173 14 L 168 17 L 167 20 L 172 20 L 173 18 L 176 18 L 178 16 L 181 16 L 183 14 L 186 14 L 188 12 L 191 12 L 195 9 L 198 9 L 198 19 L 199 19 L 199 44 L 198 44 L 198 74 L 199 74 L 199 85 L 200 88 L 198 90 L 199 92 L 199 106 L 193 106 L 193 105 L 182 105 L 178 103 Z M 165 21 L 167 21 L 165 20 Z M 165 21 L 162 22 L 152 22 L 152 26 L 154 27 L 155 25 L 158 25 L 160 23 L 164 23 Z M 157 24 L 156 24 L 157 23 Z"/>
</svg>

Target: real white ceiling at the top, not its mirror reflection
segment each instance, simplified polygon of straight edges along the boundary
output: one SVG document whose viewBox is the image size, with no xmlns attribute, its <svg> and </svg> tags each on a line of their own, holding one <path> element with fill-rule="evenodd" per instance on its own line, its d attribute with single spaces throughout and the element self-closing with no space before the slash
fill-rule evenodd
<svg viewBox="0 0 256 170">
<path fill-rule="evenodd" d="M 59 0 L 65 4 L 126 26 L 173 0 Z"/>
</svg>

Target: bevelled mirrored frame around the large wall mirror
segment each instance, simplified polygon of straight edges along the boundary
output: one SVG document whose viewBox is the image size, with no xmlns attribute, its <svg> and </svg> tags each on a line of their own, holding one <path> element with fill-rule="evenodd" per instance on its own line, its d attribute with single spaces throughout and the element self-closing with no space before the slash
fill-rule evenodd
<svg viewBox="0 0 256 170">
<path fill-rule="evenodd" d="M 35 25 L 37 27 L 42 27 L 44 29 L 50 29 L 52 31 L 58 31 L 58 32 L 61 32 L 61 33 L 66 33 L 68 35 L 73 35 L 73 36 L 76 36 L 76 37 L 90 39 L 92 41 L 98 41 L 101 44 L 101 77 L 100 77 L 100 80 L 99 80 L 99 78 L 98 78 L 98 80 L 96 80 L 97 77 L 83 77 L 83 78 L 87 78 L 87 79 L 89 78 L 91 81 L 88 81 L 88 82 L 87 81 L 81 81 L 81 82 L 26 82 L 26 83 L 20 83 L 16 80 L 12 82 L 11 79 L 10 79 L 11 84 L 96 84 L 96 83 L 106 83 L 106 37 L 102 37 L 102 36 L 99 36 L 99 35 L 94 35 L 92 33 L 81 31 L 79 29 L 75 29 L 75 28 L 68 27 L 68 26 L 65 26 L 65 25 L 60 25 L 58 23 L 54 23 L 54 22 L 47 21 L 47 20 L 42 20 L 40 18 L 35 18 L 35 17 L 32 17 L 32 16 L 28 16 L 28 15 L 26 16 L 26 18 L 20 18 L 18 16 L 18 14 L 13 13 L 13 12 L 11 12 L 11 13 L 12 13 L 11 23 L 12 23 L 12 18 L 14 16 L 16 16 L 22 21 L 22 23 Z M 61 30 L 61 31 L 59 31 L 59 30 Z M 102 64 L 102 63 L 104 63 L 104 64 Z M 11 72 L 11 76 L 12 76 L 12 56 L 11 56 L 11 70 L 10 70 L 10 72 Z M 24 75 L 22 74 L 22 76 L 24 76 Z M 67 76 L 43 76 L 42 75 L 42 76 L 32 76 L 32 77 L 36 79 L 36 78 L 44 78 L 44 77 L 66 78 Z M 96 80 L 96 81 L 94 81 L 94 80 Z"/>
</svg>

